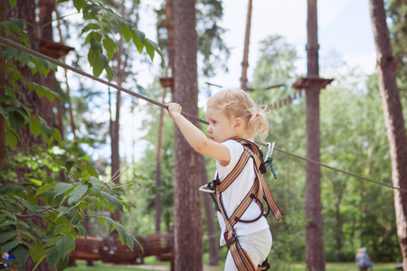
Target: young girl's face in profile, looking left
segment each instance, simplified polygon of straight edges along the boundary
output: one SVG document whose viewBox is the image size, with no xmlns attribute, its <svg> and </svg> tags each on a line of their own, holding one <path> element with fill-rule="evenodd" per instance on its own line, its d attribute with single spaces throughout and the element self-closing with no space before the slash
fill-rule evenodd
<svg viewBox="0 0 407 271">
<path fill-rule="evenodd" d="M 208 107 L 206 109 L 206 119 L 209 126 L 206 129 L 209 137 L 215 142 L 222 143 L 234 137 L 241 137 L 241 119 L 228 118 L 217 108 Z"/>
</svg>

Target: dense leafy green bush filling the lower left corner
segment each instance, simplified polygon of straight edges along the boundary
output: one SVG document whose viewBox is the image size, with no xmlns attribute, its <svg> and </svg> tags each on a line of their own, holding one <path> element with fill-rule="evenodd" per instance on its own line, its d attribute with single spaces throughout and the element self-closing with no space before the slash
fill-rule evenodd
<svg viewBox="0 0 407 271">
<path fill-rule="evenodd" d="M 37 265 L 47 257 L 51 266 L 62 270 L 75 248 L 74 240 L 87 235 L 82 225 L 86 209 L 106 206 L 123 211 L 129 206 L 112 193 L 118 190 L 113 182 L 99 180 L 77 145 L 37 145 L 30 155 L 15 150 L 0 176 L 1 252 L 13 249 L 20 264 L 28 255 Z M 67 182 L 56 182 L 60 174 Z M 133 238 L 123 226 L 109 217 L 99 221 L 118 230 L 122 241 L 133 248 Z"/>
</svg>

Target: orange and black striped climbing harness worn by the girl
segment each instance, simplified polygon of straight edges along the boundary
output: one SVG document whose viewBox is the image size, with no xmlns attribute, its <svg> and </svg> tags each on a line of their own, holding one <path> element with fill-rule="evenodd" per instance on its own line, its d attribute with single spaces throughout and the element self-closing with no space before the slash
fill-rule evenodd
<svg viewBox="0 0 407 271">
<path fill-rule="evenodd" d="M 223 236 L 226 244 L 228 245 L 228 248 L 231 251 L 234 263 L 236 264 L 238 269 L 242 271 L 267 270 L 270 268 L 267 259 L 260 266 L 254 266 L 247 252 L 243 248 L 241 248 L 241 244 L 239 243 L 239 240 L 236 236 L 236 231 L 235 229 L 233 229 L 233 227 L 234 225 L 236 225 L 237 222 L 251 223 L 260 220 L 262 216 L 266 217 L 267 215 L 269 215 L 270 210 L 273 212 L 276 220 L 281 220 L 283 214 L 280 212 L 279 207 L 274 201 L 270 190 L 267 187 L 267 183 L 264 180 L 263 173 L 266 173 L 266 166 L 262 160 L 262 153 L 260 149 L 257 145 L 249 140 L 242 138 L 234 138 L 234 140 L 236 140 L 243 146 L 244 151 L 241 154 L 238 163 L 232 169 L 232 172 L 229 173 L 222 180 L 222 182 L 217 176 L 216 180 L 208 183 L 200 190 L 203 192 L 211 192 L 211 196 L 215 201 L 216 210 L 222 213 L 222 217 L 226 226 Z M 228 216 L 226 210 L 223 207 L 222 192 L 224 192 L 232 184 L 232 182 L 236 180 L 236 178 L 239 176 L 250 159 L 253 159 L 253 167 L 256 175 L 254 183 L 251 186 L 250 192 L 247 193 L 237 209 L 233 211 L 231 216 Z M 267 212 L 264 211 L 263 200 L 267 203 Z M 253 220 L 241 220 L 241 216 L 249 208 L 249 206 L 251 205 L 251 201 L 255 201 L 259 205 L 259 217 Z"/>
</svg>

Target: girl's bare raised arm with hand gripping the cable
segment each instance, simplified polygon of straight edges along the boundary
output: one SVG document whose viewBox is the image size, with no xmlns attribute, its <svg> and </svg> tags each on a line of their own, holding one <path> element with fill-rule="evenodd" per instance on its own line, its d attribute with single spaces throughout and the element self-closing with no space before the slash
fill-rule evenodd
<svg viewBox="0 0 407 271">
<path fill-rule="evenodd" d="M 220 143 L 210 140 L 204 132 L 194 126 L 189 120 L 181 115 L 182 107 L 178 104 L 168 104 L 168 114 L 174 120 L 176 126 L 184 135 L 186 141 L 200 154 L 218 159 L 222 164 L 229 164 L 231 154 L 229 149 Z"/>
</svg>

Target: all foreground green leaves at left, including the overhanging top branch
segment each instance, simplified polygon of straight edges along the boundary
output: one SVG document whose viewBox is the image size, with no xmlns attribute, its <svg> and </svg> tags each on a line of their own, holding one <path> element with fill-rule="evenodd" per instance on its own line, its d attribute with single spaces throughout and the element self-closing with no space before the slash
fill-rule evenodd
<svg viewBox="0 0 407 271">
<path fill-rule="evenodd" d="M 9 0 L 9 4 L 13 8 L 16 1 Z M 139 53 L 146 49 L 151 60 L 156 52 L 161 55 L 156 43 L 148 40 L 145 33 L 123 21 L 102 3 L 76 0 L 73 5 L 83 14 L 83 20 L 89 22 L 82 33 L 88 33 L 85 44 L 90 44 L 88 61 L 95 76 L 106 71 L 109 79 L 113 79 L 109 61 L 118 51 L 113 39 L 119 33 L 127 42 L 133 42 Z M 23 22 L 14 18 L 2 24 L 7 34 L 30 47 L 30 33 L 24 32 Z M 47 259 L 52 267 L 58 266 L 58 270 L 62 270 L 68 265 L 68 255 L 75 248 L 75 239 L 87 235 L 83 220 L 88 208 L 124 211 L 130 204 L 120 198 L 119 186 L 100 180 L 79 142 L 63 142 L 55 127 L 48 126 L 41 116 L 32 114 L 33 108 L 27 104 L 21 86 L 50 101 L 62 99 L 62 96 L 24 79 L 15 64 L 27 66 L 33 74 L 41 77 L 56 67 L 5 44 L 0 46 L 7 74 L 7 84 L 2 86 L 6 94 L 0 97 L 7 144 L 5 167 L 0 175 L 1 252 L 13 249 L 16 257 L 13 264 L 19 269 L 28 257 L 32 257 L 36 263 L 34 268 Z M 29 129 L 33 137 L 42 135 L 47 145 L 29 146 L 27 152 L 23 145 L 24 129 Z M 117 230 L 122 244 L 131 249 L 134 247 L 134 238 L 117 221 L 100 216 L 99 222 L 106 224 L 110 231 Z"/>
</svg>

